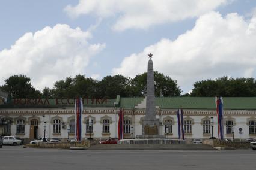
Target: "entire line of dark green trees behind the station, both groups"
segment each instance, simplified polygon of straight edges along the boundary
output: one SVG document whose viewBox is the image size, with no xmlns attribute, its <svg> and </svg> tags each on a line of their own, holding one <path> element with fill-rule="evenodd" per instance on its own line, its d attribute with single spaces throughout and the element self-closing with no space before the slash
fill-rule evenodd
<svg viewBox="0 0 256 170">
<path fill-rule="evenodd" d="M 6 79 L 1 87 L 9 92 L 12 98 L 75 98 L 75 96 L 116 98 L 117 95 L 143 97 L 147 95 L 147 72 L 136 75 L 135 78 L 108 75 L 102 80 L 76 75 L 74 78 L 58 80 L 52 89 L 44 87 L 42 92 L 32 86 L 31 79 L 26 75 L 13 75 Z M 154 87 L 156 96 L 181 96 L 177 81 L 157 71 L 154 72 Z M 228 78 L 227 76 L 216 80 L 197 81 L 194 83 L 192 93 L 182 96 L 252 97 L 256 96 L 256 81 L 254 78 Z"/>
</svg>

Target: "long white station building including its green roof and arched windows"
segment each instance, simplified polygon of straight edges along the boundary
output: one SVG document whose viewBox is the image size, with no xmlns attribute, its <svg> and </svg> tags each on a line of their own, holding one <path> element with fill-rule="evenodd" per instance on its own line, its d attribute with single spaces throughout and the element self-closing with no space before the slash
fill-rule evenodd
<svg viewBox="0 0 256 170">
<path fill-rule="evenodd" d="M 186 139 L 218 138 L 215 98 L 156 98 L 159 135 L 178 138 L 178 108 L 183 109 Z M 120 109 L 124 110 L 124 138 L 142 135 L 145 99 L 117 96 L 116 99 L 84 99 L 82 138 L 117 138 Z M 74 111 L 73 99 L 12 99 L 0 107 L 0 135 L 29 141 L 43 137 L 45 131 L 48 138 L 75 138 Z M 256 138 L 256 98 L 224 98 L 224 134 L 230 139 Z"/>
</svg>

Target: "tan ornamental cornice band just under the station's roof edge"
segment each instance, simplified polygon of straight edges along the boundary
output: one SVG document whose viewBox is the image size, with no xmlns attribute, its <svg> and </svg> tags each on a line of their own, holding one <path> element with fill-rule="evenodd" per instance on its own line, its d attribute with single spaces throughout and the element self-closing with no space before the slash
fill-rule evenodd
<svg viewBox="0 0 256 170">
<path fill-rule="evenodd" d="M 74 114 L 74 108 L 7 108 L 0 115 Z M 84 108 L 82 114 L 118 114 L 119 108 Z M 145 115 L 144 109 L 125 109 L 124 115 Z M 156 110 L 157 115 L 176 115 L 177 110 Z M 216 116 L 216 110 L 183 110 L 184 116 Z M 224 110 L 224 116 L 256 116 L 256 110 Z"/>
</svg>

